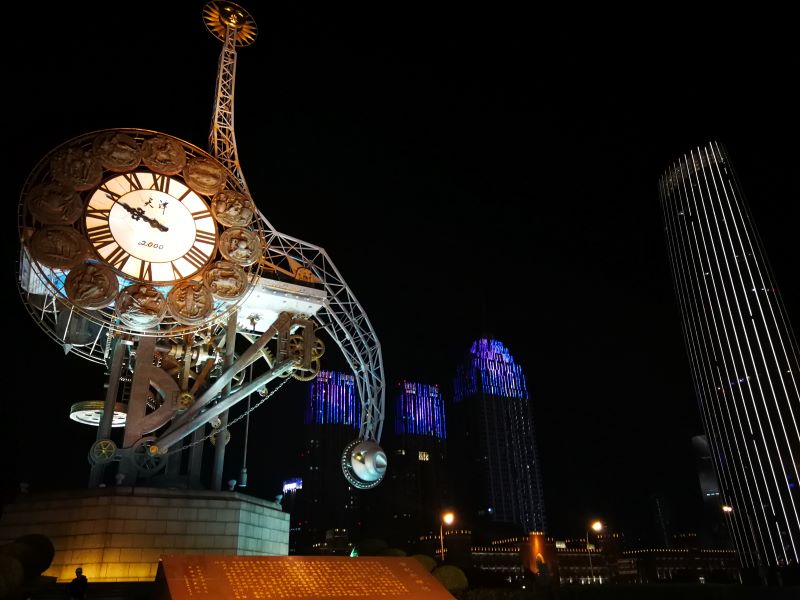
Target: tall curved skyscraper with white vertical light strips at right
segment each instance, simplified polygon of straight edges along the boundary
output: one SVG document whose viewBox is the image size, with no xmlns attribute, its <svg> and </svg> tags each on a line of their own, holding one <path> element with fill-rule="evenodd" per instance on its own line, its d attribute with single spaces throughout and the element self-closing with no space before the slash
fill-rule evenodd
<svg viewBox="0 0 800 600">
<path fill-rule="evenodd" d="M 659 182 L 721 508 L 745 568 L 800 558 L 797 341 L 725 149 L 712 142 Z"/>
</svg>

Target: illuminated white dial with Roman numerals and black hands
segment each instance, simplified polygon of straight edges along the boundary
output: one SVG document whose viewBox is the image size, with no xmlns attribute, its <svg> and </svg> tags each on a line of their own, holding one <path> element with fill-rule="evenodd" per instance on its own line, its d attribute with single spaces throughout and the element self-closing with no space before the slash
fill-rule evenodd
<svg viewBox="0 0 800 600">
<path fill-rule="evenodd" d="M 178 179 L 150 171 L 103 182 L 86 206 L 97 255 L 128 279 L 169 283 L 192 277 L 217 250 L 208 205 Z"/>
</svg>

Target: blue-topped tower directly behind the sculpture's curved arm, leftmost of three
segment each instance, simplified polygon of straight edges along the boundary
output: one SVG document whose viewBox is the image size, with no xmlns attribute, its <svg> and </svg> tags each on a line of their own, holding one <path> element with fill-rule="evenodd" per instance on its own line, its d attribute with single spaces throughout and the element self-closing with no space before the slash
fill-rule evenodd
<svg viewBox="0 0 800 600">
<path fill-rule="evenodd" d="M 289 546 L 295 553 L 319 553 L 333 531 L 338 548 L 342 537 L 360 526 L 358 490 L 341 468 L 342 451 L 358 434 L 357 395 L 355 379 L 346 373 L 320 371 L 309 385 L 303 477 L 284 484 L 284 510 L 292 506 Z"/>
</svg>

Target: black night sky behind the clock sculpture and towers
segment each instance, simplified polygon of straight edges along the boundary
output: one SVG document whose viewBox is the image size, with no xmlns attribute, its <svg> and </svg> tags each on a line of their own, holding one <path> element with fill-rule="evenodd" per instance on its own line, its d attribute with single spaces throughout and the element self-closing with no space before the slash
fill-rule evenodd
<svg viewBox="0 0 800 600">
<path fill-rule="evenodd" d="M 202 6 L 62 3 L 8 28 L 11 206 L 36 162 L 81 133 L 206 145 L 220 44 Z M 653 493 L 676 529 L 695 527 L 701 430 L 657 181 L 694 146 L 725 144 L 798 322 L 795 41 L 490 5 L 244 6 L 259 26 L 238 62 L 245 177 L 277 229 L 329 252 L 380 339 L 388 390 L 407 378 L 449 393 L 471 342 L 493 336 L 528 378 L 552 532 L 594 516 L 634 529 Z M 6 310 L 4 473 L 82 486 L 93 432 L 68 408 L 102 397 L 102 368 L 63 356 L 16 299 Z M 253 413 L 265 496 L 295 474 L 282 449 L 302 429 L 278 400 Z"/>
</svg>

